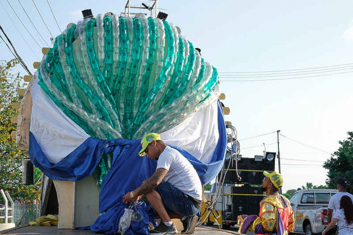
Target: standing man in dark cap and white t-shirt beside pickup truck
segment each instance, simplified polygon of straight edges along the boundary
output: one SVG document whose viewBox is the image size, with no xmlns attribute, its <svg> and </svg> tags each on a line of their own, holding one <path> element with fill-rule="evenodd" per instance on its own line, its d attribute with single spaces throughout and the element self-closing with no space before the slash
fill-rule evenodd
<svg viewBox="0 0 353 235">
<path fill-rule="evenodd" d="M 334 196 L 330 198 L 328 209 L 327 209 L 328 223 L 331 223 L 334 210 L 340 209 L 340 200 L 342 196 L 347 195 L 348 197 L 351 198 L 353 202 L 353 195 L 347 192 L 347 187 L 348 187 L 348 181 L 345 178 L 340 178 L 337 180 L 338 193 L 336 193 Z"/>
</svg>

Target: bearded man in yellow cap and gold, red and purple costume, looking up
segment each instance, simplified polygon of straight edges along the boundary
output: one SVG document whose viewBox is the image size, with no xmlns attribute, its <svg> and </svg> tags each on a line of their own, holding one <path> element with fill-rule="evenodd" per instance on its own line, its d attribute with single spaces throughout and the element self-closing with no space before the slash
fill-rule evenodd
<svg viewBox="0 0 353 235">
<path fill-rule="evenodd" d="M 283 185 L 283 177 L 278 172 L 264 171 L 264 175 L 261 190 L 267 197 L 260 202 L 259 216 L 238 216 L 239 233 L 245 234 L 250 230 L 255 234 L 288 235 L 288 232 L 293 232 L 295 218 L 291 203 L 278 192 Z"/>
</svg>

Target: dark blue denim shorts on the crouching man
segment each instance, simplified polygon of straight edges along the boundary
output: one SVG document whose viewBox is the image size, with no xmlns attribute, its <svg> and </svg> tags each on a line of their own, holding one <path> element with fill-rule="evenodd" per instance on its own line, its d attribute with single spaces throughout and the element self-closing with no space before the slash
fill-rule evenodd
<svg viewBox="0 0 353 235">
<path fill-rule="evenodd" d="M 192 201 L 169 182 L 160 183 L 155 190 L 161 195 L 163 205 L 168 214 L 179 214 L 183 216 L 198 214 L 199 210 Z"/>
</svg>

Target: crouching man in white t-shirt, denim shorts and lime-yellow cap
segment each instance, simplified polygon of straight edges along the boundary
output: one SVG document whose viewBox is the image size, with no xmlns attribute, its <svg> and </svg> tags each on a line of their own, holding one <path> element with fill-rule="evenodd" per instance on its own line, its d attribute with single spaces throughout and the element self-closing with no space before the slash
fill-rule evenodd
<svg viewBox="0 0 353 235">
<path fill-rule="evenodd" d="M 141 186 L 126 193 L 123 202 L 133 202 L 142 195 L 148 199 L 161 218 L 161 223 L 150 234 L 172 235 L 178 232 L 168 212 L 180 215 L 184 226 L 182 234 L 192 234 L 202 200 L 202 185 L 195 168 L 178 150 L 167 146 L 159 134 L 145 135 L 141 145 L 139 155 L 158 161 L 157 168 Z"/>
</svg>

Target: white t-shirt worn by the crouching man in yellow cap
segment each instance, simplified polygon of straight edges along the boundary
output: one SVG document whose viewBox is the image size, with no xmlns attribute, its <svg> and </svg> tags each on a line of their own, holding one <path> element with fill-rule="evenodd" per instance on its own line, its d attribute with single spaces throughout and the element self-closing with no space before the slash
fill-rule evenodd
<svg viewBox="0 0 353 235">
<path fill-rule="evenodd" d="M 178 150 L 167 146 L 157 161 L 157 168 L 168 172 L 164 181 L 168 181 L 181 192 L 202 200 L 202 185 L 195 168 Z"/>
</svg>

